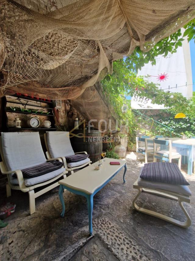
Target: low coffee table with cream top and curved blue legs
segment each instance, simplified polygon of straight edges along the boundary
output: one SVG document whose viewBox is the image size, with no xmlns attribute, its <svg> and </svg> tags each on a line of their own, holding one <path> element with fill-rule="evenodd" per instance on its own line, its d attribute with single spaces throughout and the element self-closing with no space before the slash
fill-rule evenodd
<svg viewBox="0 0 195 261">
<path fill-rule="evenodd" d="M 101 160 L 102 161 L 102 160 Z M 117 161 L 120 165 L 110 165 L 110 162 Z M 124 167 L 123 183 L 125 183 L 125 173 L 127 170 L 126 161 L 105 158 L 105 162 L 102 162 L 100 170 L 95 170 L 95 166 L 98 162 L 95 162 L 82 170 L 73 173 L 64 180 L 59 181 L 59 198 L 62 203 L 61 217 L 65 214 L 65 203 L 63 198 L 64 189 L 67 189 L 74 194 L 84 196 L 87 198 L 88 216 L 89 216 L 89 232 L 93 233 L 92 229 L 92 212 L 93 212 L 93 197 L 100 191 L 119 171 Z"/>
</svg>

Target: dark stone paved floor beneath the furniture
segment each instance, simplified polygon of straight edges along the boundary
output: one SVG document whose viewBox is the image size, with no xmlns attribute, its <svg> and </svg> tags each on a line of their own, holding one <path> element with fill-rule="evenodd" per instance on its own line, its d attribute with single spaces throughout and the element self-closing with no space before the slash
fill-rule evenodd
<svg viewBox="0 0 195 261">
<path fill-rule="evenodd" d="M 135 211 L 133 182 L 143 163 L 133 152 L 126 155 L 126 184 L 121 171 L 94 196 L 92 237 L 88 233 L 86 199 L 64 193 L 66 214 L 60 217 L 58 188 L 36 199 L 36 212 L 29 215 L 28 194 L 12 191 L 16 212 L 0 229 L 0 260 L 195 260 L 195 179 L 186 177 L 193 192 L 185 207 L 192 225 L 183 229 Z M 186 171 L 186 166 L 183 166 Z M 184 218 L 176 201 L 142 193 L 138 204 L 160 213 Z"/>
</svg>

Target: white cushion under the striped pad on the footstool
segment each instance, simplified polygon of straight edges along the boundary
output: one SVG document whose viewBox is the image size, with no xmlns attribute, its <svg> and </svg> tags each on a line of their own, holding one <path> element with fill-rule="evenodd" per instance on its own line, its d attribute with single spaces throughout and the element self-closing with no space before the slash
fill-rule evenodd
<svg viewBox="0 0 195 261">
<path fill-rule="evenodd" d="M 142 172 L 143 167 L 140 170 L 140 174 Z M 140 176 L 140 175 L 139 175 Z M 138 178 L 137 184 L 139 186 L 147 187 L 147 188 L 156 188 L 156 189 L 163 189 L 170 192 L 179 193 L 185 196 L 191 196 L 192 192 L 186 185 L 172 185 L 168 183 L 162 183 L 162 182 L 154 182 L 154 181 L 147 181 L 142 178 Z"/>
</svg>

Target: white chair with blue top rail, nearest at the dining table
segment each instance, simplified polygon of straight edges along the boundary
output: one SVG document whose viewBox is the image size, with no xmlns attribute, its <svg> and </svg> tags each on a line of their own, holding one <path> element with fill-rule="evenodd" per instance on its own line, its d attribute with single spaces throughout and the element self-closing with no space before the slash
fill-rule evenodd
<svg viewBox="0 0 195 261">
<path fill-rule="evenodd" d="M 160 147 L 159 147 L 160 145 Z M 161 149 L 161 145 L 163 145 L 163 148 L 166 146 L 168 149 Z M 157 161 L 157 159 L 160 159 L 162 161 L 168 161 L 171 162 L 172 158 L 178 159 L 178 166 L 181 170 L 181 158 L 182 156 L 178 152 L 172 151 L 172 142 L 171 140 L 157 140 L 154 139 L 154 162 Z"/>
</svg>

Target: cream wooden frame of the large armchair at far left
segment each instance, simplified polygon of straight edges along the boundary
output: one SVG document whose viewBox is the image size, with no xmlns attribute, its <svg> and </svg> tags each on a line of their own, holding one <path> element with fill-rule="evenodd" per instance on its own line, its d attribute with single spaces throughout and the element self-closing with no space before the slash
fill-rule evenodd
<svg viewBox="0 0 195 261">
<path fill-rule="evenodd" d="M 35 184 L 35 185 L 26 186 L 25 183 L 24 183 L 24 178 L 23 178 L 21 170 L 12 170 L 12 171 L 7 170 L 7 166 L 5 164 L 5 159 L 4 159 L 4 156 L 3 156 L 1 137 L 0 137 L 0 153 L 1 153 L 1 157 L 2 157 L 2 162 L 0 162 L 0 170 L 1 170 L 1 173 L 7 175 L 7 178 L 8 178 L 8 182 L 6 182 L 7 197 L 11 196 L 11 189 L 21 190 L 22 192 L 28 192 L 30 215 L 35 212 L 35 198 L 43 195 L 45 192 L 48 192 L 52 188 L 59 186 L 59 183 L 57 181 L 57 182 L 47 186 L 46 188 L 39 190 L 36 193 L 34 192 L 34 188 L 38 188 L 38 187 L 41 187 L 41 186 L 44 186 L 44 185 L 48 185 L 48 184 L 54 182 L 55 180 L 59 179 L 62 176 L 63 176 L 63 178 L 66 178 L 66 173 L 68 173 L 68 171 L 65 170 L 62 173 L 60 173 L 58 176 L 56 176 L 56 177 L 54 177 L 54 178 L 52 178 L 48 181 L 44 181 L 44 182 L 41 182 L 41 183 L 38 183 L 38 184 Z M 61 158 L 50 158 L 47 161 L 53 161 L 53 160 L 58 160 L 58 161 L 62 162 Z M 13 174 L 13 173 L 16 173 L 18 185 L 12 184 L 10 182 L 9 174 Z"/>
</svg>

